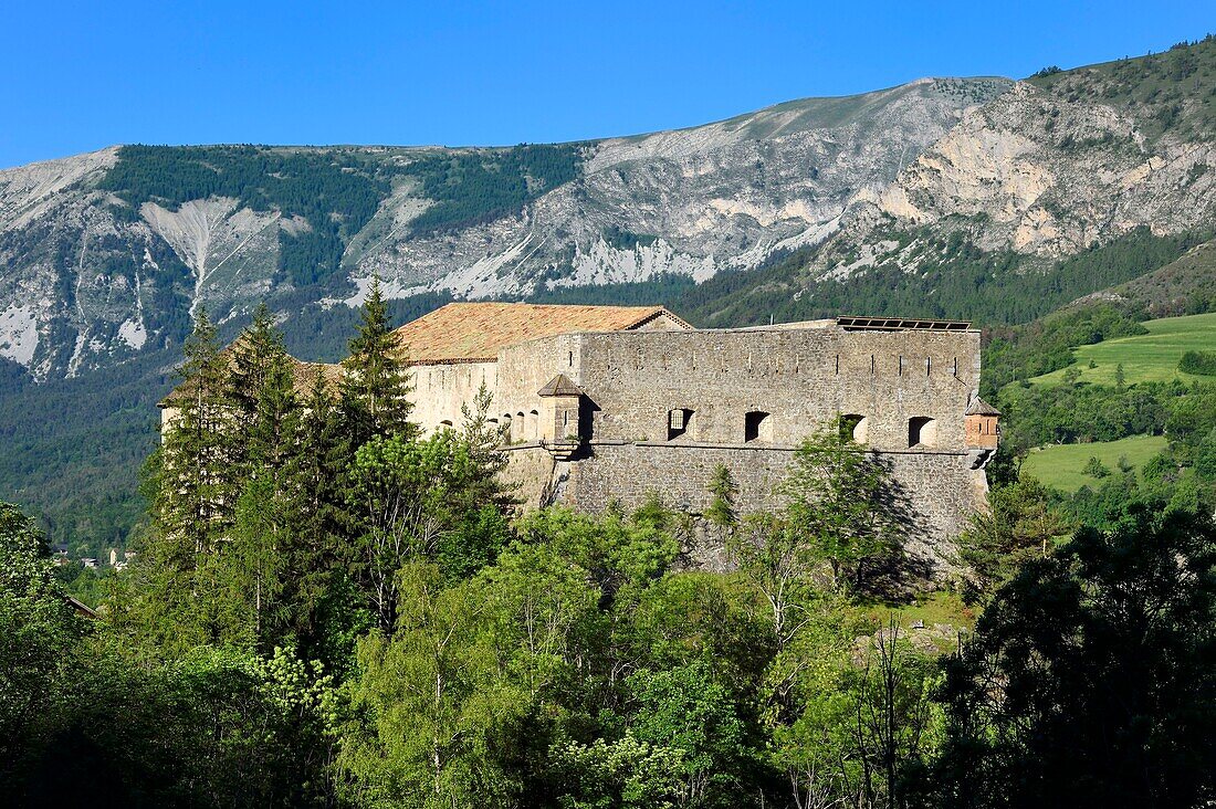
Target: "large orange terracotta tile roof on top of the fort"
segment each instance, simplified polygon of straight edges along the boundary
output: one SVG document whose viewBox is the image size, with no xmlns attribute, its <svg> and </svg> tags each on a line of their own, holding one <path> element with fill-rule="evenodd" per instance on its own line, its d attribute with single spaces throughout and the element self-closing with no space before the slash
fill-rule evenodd
<svg viewBox="0 0 1216 809">
<path fill-rule="evenodd" d="M 663 307 L 449 303 L 396 330 L 411 364 L 492 361 L 508 345 L 582 331 L 626 331 L 657 318 L 692 328 Z"/>
</svg>

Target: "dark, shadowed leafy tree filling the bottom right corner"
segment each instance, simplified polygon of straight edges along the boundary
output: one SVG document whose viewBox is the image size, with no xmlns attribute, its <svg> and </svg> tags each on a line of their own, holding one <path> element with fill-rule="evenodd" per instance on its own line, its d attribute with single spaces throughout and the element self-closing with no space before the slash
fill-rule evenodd
<svg viewBox="0 0 1216 809">
<path fill-rule="evenodd" d="M 945 807 L 1216 796 L 1216 532 L 1133 507 L 1026 563 L 947 665 Z"/>
</svg>

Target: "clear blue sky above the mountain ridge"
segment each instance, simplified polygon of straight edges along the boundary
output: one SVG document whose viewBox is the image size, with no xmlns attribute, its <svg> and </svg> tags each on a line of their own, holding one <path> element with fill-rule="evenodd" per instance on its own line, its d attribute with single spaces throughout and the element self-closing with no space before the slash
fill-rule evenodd
<svg viewBox="0 0 1216 809">
<path fill-rule="evenodd" d="M 1216 29 L 1189 2 L 9 0 L 0 167 L 109 144 L 497 145 L 687 127 Z"/>
</svg>

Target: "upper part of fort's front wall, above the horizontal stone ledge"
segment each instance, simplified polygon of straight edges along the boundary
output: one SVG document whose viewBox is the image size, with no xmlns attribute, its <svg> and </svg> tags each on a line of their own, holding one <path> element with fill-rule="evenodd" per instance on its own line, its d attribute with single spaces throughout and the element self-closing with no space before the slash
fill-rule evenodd
<svg viewBox="0 0 1216 809">
<path fill-rule="evenodd" d="M 579 336 L 593 440 L 666 440 L 668 412 L 693 411 L 679 442 L 742 443 L 744 414 L 771 414 L 771 444 L 796 444 L 837 412 L 867 417 L 866 444 L 907 449 L 908 418 L 936 420 L 962 450 L 979 387 L 979 333 L 835 327 Z M 544 343 L 517 347 L 544 354 Z M 873 370 L 872 370 L 873 369 Z M 957 369 L 957 375 L 956 375 Z M 506 375 L 503 375 L 503 378 Z"/>
</svg>

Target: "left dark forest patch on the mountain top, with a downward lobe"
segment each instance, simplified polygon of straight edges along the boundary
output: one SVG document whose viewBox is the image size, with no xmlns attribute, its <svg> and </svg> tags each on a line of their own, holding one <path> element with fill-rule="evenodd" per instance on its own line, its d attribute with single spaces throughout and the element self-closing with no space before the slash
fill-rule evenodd
<svg viewBox="0 0 1216 809">
<path fill-rule="evenodd" d="M 216 196 L 300 217 L 304 230 L 280 231 L 278 270 L 297 286 L 310 286 L 338 273 L 347 241 L 375 215 L 389 180 L 382 164 L 353 150 L 124 146 L 100 187 L 134 208 L 143 202 L 176 208 Z"/>
</svg>

